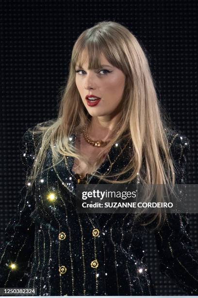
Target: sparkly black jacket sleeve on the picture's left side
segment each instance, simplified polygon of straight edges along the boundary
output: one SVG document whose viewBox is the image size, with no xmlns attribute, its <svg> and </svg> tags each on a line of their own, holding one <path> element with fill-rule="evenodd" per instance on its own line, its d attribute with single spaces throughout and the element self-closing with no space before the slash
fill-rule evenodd
<svg viewBox="0 0 198 298">
<path fill-rule="evenodd" d="M 34 160 L 32 133 L 27 130 L 20 142 L 20 157 L 29 177 Z M 33 189 L 29 183 L 21 188 L 16 215 L 11 218 L 0 245 L 0 287 L 25 287 L 33 257 L 34 209 Z"/>
</svg>

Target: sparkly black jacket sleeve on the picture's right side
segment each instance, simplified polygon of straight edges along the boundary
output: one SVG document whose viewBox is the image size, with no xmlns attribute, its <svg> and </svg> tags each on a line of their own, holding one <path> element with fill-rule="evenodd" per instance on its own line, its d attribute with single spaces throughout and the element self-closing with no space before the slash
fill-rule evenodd
<svg viewBox="0 0 198 298">
<path fill-rule="evenodd" d="M 175 160 L 176 183 L 186 184 L 189 173 L 190 141 L 177 135 L 171 154 Z M 198 294 L 198 250 L 189 236 L 189 214 L 167 214 L 165 224 L 155 231 L 160 269 L 188 295 Z"/>
</svg>

